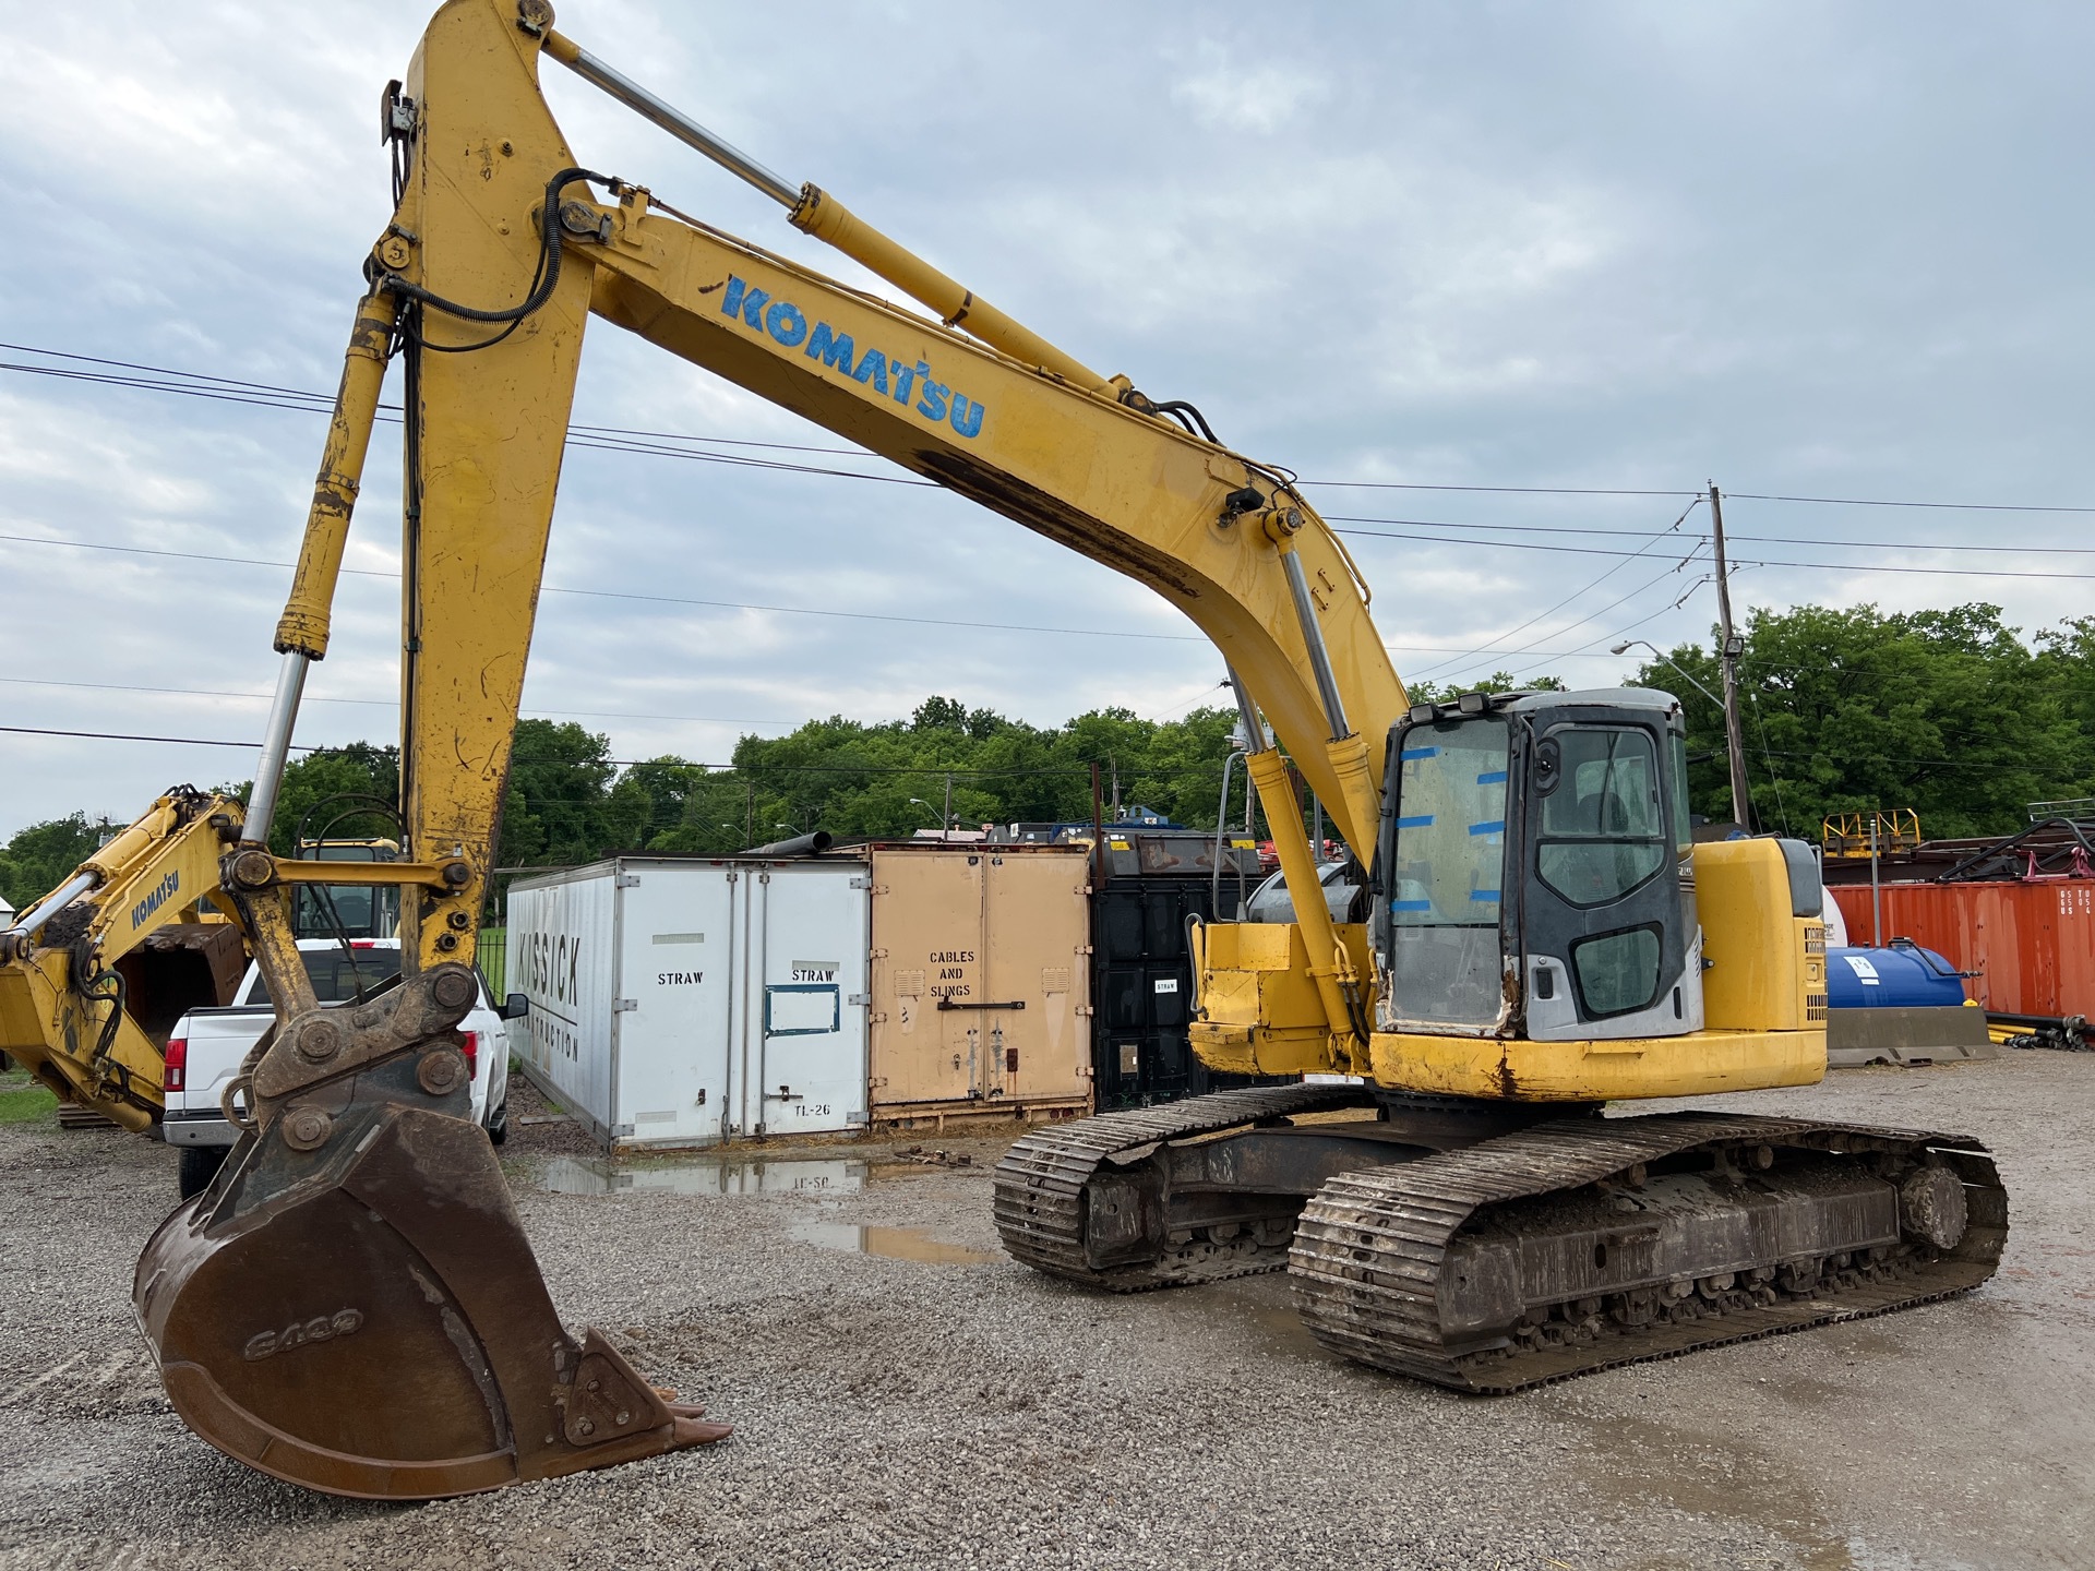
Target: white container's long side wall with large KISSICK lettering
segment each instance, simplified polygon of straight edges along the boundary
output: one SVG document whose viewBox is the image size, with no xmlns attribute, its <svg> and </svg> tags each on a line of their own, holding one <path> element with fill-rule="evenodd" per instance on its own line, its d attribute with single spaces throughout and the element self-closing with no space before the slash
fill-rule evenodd
<svg viewBox="0 0 2095 1571">
<path fill-rule="evenodd" d="M 612 869 L 509 890 L 507 989 L 530 999 L 509 1052 L 599 1133 L 618 1123 L 612 1003 L 618 987 Z"/>
</svg>

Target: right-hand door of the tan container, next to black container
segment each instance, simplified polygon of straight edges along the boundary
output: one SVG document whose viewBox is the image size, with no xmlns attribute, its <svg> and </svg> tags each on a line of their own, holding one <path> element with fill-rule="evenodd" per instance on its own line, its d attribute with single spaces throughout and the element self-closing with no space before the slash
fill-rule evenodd
<svg viewBox="0 0 2095 1571">
<path fill-rule="evenodd" d="M 983 903 L 983 1091 L 1008 1102 L 1089 1096 L 1089 1020 L 1083 945 L 1087 911 L 1079 857 L 987 857 Z"/>
</svg>

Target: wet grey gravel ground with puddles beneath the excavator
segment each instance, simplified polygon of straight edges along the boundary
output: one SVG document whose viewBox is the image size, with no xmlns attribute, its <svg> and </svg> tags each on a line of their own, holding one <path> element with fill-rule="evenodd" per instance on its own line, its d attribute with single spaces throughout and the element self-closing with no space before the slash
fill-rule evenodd
<svg viewBox="0 0 2095 1571">
<path fill-rule="evenodd" d="M 995 1142 L 941 1142 L 972 1167 L 825 1148 L 612 1177 L 517 1123 L 505 1167 L 570 1324 L 737 1433 L 432 1506 L 304 1493 L 191 1437 L 128 1303 L 174 1152 L 0 1127 L 0 1567 L 2095 1565 L 2095 1058 L 1720 1106 L 1990 1142 L 2001 1276 L 1464 1399 L 1324 1355 L 1280 1276 L 1110 1299 L 1004 1261 Z"/>
</svg>

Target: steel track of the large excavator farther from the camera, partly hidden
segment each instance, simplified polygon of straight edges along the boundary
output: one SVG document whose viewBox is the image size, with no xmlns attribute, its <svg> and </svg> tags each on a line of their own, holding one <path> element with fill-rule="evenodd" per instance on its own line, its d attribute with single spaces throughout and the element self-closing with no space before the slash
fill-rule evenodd
<svg viewBox="0 0 2095 1571">
<path fill-rule="evenodd" d="M 1368 1106 L 1368 1098 L 1355 1085 L 1257 1085 L 1041 1129 L 1012 1146 L 997 1163 L 997 1234 L 1012 1259 L 1048 1276 L 1108 1292 L 1146 1292 L 1278 1271 L 1288 1263 L 1284 1251 L 1215 1259 L 1211 1253 L 1200 1253 L 1211 1246 L 1152 1263 L 1094 1269 L 1083 1248 L 1083 1186 L 1098 1165 L 1117 1152 L 1154 1146 L 1161 1139 L 1190 1139 L 1259 1119 L 1349 1106 Z"/>
</svg>

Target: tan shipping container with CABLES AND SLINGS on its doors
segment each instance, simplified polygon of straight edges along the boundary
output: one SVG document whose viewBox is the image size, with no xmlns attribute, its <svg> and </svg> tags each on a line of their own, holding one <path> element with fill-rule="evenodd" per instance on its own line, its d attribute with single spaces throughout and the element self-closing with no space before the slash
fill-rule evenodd
<svg viewBox="0 0 2095 1571">
<path fill-rule="evenodd" d="M 1085 846 L 874 848 L 872 1119 L 1091 1108 Z"/>
</svg>

